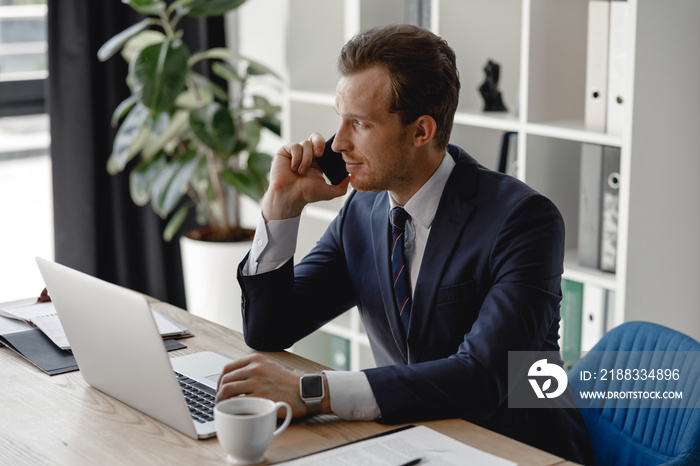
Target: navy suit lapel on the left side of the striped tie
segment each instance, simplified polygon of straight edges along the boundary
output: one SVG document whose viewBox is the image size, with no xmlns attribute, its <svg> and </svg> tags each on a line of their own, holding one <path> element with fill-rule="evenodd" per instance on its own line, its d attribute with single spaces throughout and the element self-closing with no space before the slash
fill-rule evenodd
<svg viewBox="0 0 700 466">
<path fill-rule="evenodd" d="M 371 214 L 372 244 L 374 260 L 377 264 L 377 282 L 382 293 L 382 301 L 391 333 L 404 362 L 407 362 L 406 336 L 404 335 L 399 311 L 394 301 L 394 286 L 391 283 L 391 264 L 389 263 L 389 196 L 376 196 Z"/>
</svg>

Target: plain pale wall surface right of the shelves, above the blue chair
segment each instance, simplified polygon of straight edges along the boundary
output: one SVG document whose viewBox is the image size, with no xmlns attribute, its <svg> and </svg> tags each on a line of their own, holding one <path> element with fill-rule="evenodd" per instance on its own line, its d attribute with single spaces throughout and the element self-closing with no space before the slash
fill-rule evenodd
<svg viewBox="0 0 700 466">
<path fill-rule="evenodd" d="M 625 320 L 700 340 L 700 3 L 668 8 L 638 1 Z"/>
</svg>

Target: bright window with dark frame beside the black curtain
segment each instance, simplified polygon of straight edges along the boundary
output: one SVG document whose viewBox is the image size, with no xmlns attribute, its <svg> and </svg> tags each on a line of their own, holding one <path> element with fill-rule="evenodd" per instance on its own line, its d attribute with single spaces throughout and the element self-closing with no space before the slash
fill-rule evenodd
<svg viewBox="0 0 700 466">
<path fill-rule="evenodd" d="M 37 296 L 53 258 L 46 0 L 0 0 L 0 303 Z"/>
</svg>

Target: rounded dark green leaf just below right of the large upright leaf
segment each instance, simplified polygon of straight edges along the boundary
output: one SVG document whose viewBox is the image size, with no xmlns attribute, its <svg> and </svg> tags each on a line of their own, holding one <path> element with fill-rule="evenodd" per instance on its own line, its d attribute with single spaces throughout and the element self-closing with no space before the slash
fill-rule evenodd
<svg viewBox="0 0 700 466">
<path fill-rule="evenodd" d="M 233 117 L 226 107 L 213 102 L 190 113 L 190 128 L 207 147 L 219 154 L 231 154 L 236 144 Z"/>
</svg>

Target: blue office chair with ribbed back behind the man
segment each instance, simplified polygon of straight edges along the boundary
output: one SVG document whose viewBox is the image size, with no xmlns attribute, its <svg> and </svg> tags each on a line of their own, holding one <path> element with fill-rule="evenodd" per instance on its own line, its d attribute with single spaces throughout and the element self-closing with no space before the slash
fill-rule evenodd
<svg viewBox="0 0 700 466">
<path fill-rule="evenodd" d="M 607 381 L 599 380 L 605 371 L 632 367 L 680 370 L 678 381 L 673 382 L 656 378 L 611 381 L 609 373 Z M 582 381 L 582 371 L 596 373 L 597 378 Z M 654 406 L 658 407 L 649 407 L 649 400 L 595 401 L 575 396 L 591 436 L 596 465 L 700 465 L 700 343 L 661 325 L 627 322 L 606 333 L 568 376 L 572 394 L 591 387 L 605 391 L 630 387 L 635 391 L 657 391 L 664 386 L 683 393 L 681 405 L 679 400 L 673 401 L 676 404 L 655 401 Z"/>
</svg>

